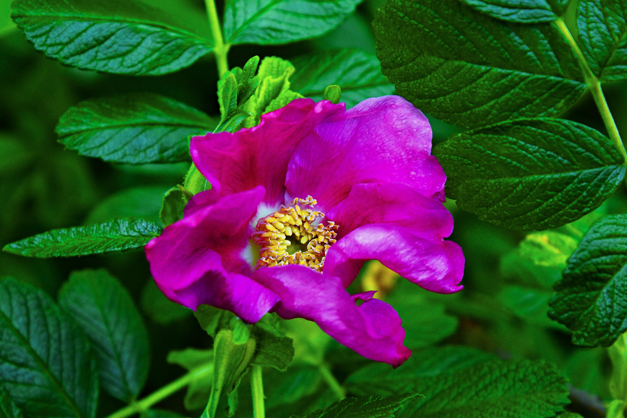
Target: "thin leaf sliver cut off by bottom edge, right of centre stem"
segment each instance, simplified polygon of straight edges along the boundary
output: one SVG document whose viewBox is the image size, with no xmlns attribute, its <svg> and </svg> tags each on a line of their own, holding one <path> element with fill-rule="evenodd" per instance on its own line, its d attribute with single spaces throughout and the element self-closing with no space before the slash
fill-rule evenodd
<svg viewBox="0 0 627 418">
<path fill-rule="evenodd" d="M 421 397 L 419 394 L 397 396 L 347 398 L 334 402 L 327 409 L 319 409 L 305 417 L 292 415 L 292 418 L 393 418 L 394 412 L 401 409 L 408 400 Z"/>
</svg>

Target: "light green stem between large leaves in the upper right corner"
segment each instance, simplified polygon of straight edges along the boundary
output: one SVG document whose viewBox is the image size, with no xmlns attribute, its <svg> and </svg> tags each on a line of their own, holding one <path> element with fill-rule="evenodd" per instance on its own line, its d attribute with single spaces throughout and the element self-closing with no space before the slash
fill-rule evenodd
<svg viewBox="0 0 627 418">
<path fill-rule="evenodd" d="M 627 167 L 627 152 L 625 152 L 625 147 L 623 145 L 623 140 L 621 140 L 621 135 L 618 133 L 618 128 L 616 127 L 616 122 L 614 122 L 614 118 L 612 117 L 612 113 L 609 111 L 608 102 L 605 100 L 605 96 L 603 95 L 603 90 L 601 90 L 601 83 L 599 79 L 594 75 L 590 67 L 587 65 L 586 57 L 584 57 L 581 49 L 579 49 L 579 45 L 577 45 L 577 41 L 572 38 L 572 35 L 568 28 L 566 28 L 566 24 L 564 24 L 564 20 L 562 18 L 558 18 L 555 21 L 557 29 L 564 35 L 566 41 L 570 44 L 572 50 L 577 55 L 577 59 L 579 60 L 579 65 L 581 65 L 581 69 L 584 73 L 584 80 L 590 86 L 590 90 L 592 96 L 594 98 L 594 103 L 596 103 L 596 107 L 599 109 L 599 113 L 601 113 L 601 118 L 603 118 L 603 123 L 605 124 L 605 128 L 608 130 L 609 138 L 614 143 L 614 147 L 618 150 L 618 152 L 623 157 L 623 165 Z"/>
</svg>

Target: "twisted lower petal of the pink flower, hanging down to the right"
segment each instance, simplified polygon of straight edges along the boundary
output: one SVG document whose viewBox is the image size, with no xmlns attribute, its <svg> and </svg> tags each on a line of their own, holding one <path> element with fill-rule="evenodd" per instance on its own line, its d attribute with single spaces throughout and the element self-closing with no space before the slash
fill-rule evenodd
<svg viewBox="0 0 627 418">
<path fill-rule="evenodd" d="M 282 318 L 315 321 L 337 342 L 394 367 L 411 355 L 403 346 L 405 330 L 392 306 L 364 294 L 356 295 L 366 300 L 357 306 L 337 277 L 292 264 L 260 268 L 252 278 L 279 295 L 274 310 Z"/>
</svg>

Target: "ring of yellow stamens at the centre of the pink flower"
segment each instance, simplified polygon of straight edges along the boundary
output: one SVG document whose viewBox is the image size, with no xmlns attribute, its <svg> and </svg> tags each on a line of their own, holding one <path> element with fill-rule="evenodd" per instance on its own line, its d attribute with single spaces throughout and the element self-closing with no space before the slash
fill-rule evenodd
<svg viewBox="0 0 627 418">
<path fill-rule="evenodd" d="M 259 246 L 260 259 L 255 268 L 302 264 L 322 272 L 327 249 L 335 243 L 338 226 L 327 222 L 324 226 L 312 224 L 324 213 L 301 209 L 298 204 L 314 207 L 317 203 L 311 196 L 294 199 L 292 206 L 281 205 L 278 212 L 261 218 L 253 241 Z"/>
</svg>

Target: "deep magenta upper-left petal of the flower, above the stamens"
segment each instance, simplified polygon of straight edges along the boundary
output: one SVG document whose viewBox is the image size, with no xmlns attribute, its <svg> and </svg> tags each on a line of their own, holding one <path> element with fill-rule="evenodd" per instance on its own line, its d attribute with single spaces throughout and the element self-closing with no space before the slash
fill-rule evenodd
<svg viewBox="0 0 627 418">
<path fill-rule="evenodd" d="M 293 100 L 261 115 L 261 123 L 250 129 L 192 137 L 192 161 L 220 196 L 263 185 L 266 204 L 283 203 L 285 172 L 298 142 L 321 120 L 344 109 L 344 103 L 328 100 Z"/>
</svg>

